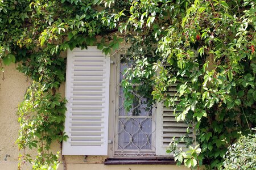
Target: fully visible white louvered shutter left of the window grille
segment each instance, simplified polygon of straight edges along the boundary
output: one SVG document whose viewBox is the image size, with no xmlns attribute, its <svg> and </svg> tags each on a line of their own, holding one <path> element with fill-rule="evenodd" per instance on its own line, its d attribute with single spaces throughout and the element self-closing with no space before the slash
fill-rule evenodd
<svg viewBox="0 0 256 170">
<path fill-rule="evenodd" d="M 109 72 L 96 46 L 68 50 L 63 155 L 108 155 Z"/>
</svg>

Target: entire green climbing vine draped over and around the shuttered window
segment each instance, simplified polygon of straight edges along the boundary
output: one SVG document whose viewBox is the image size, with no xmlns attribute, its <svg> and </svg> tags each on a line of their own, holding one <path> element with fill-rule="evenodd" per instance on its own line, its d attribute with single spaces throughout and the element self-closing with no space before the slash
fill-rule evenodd
<svg viewBox="0 0 256 170">
<path fill-rule="evenodd" d="M 20 158 L 34 169 L 58 163 L 47 151 L 52 141 L 67 138 L 65 99 L 56 93 L 65 74 L 59 56 L 97 45 L 105 54 L 123 49 L 134 61 L 122 82 L 127 109 L 129 90 L 141 82 L 136 87 L 149 104 L 164 101 L 179 111 L 177 121 L 193 128 L 200 150 L 176 150 L 178 163 L 220 167 L 238 131 L 249 134 L 256 125 L 255 12 L 253 0 L 0 1 L 1 63 L 21 62 L 18 70 L 34 80 L 19 105 L 17 143 L 40 146 L 43 156 Z M 172 84 L 175 97 L 167 94 Z"/>
</svg>

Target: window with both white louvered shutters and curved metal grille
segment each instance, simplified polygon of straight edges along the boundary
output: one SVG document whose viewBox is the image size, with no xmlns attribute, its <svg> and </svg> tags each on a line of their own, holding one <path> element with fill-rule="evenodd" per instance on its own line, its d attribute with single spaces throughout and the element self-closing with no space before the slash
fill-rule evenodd
<svg viewBox="0 0 256 170">
<path fill-rule="evenodd" d="M 68 51 L 65 96 L 68 100 L 63 155 L 154 157 L 166 155 L 172 137 L 185 135 L 187 125 L 176 122 L 162 103 L 146 106 L 133 91 L 133 109 L 123 109 L 120 81 L 127 67 L 122 57 L 104 56 L 96 46 Z M 176 87 L 171 87 L 173 94 Z M 181 146 L 183 146 L 181 144 Z"/>
</svg>

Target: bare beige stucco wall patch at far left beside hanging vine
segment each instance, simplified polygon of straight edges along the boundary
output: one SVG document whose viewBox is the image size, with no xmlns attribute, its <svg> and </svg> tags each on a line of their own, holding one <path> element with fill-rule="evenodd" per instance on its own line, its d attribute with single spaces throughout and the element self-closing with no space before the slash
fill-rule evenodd
<svg viewBox="0 0 256 170">
<path fill-rule="evenodd" d="M 0 73 L 0 169 L 16 169 L 18 163 L 19 123 L 16 111 L 30 82 L 23 73 L 16 70 L 16 65 L 5 67 L 5 73 Z M 5 161 L 6 155 L 7 157 Z"/>
</svg>

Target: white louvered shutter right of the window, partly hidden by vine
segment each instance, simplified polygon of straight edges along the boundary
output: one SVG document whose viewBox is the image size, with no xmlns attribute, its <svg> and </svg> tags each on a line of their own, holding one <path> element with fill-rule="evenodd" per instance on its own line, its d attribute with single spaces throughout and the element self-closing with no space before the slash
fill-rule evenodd
<svg viewBox="0 0 256 170">
<path fill-rule="evenodd" d="M 170 87 L 168 94 L 174 96 L 175 93 L 176 86 Z M 166 149 L 172 138 L 186 135 L 187 128 L 187 124 L 175 120 L 174 109 L 164 107 L 163 102 L 159 102 L 156 109 L 156 155 L 169 155 Z M 192 134 L 189 136 L 192 137 Z M 185 144 L 179 143 L 178 147 L 185 147 Z"/>
</svg>

